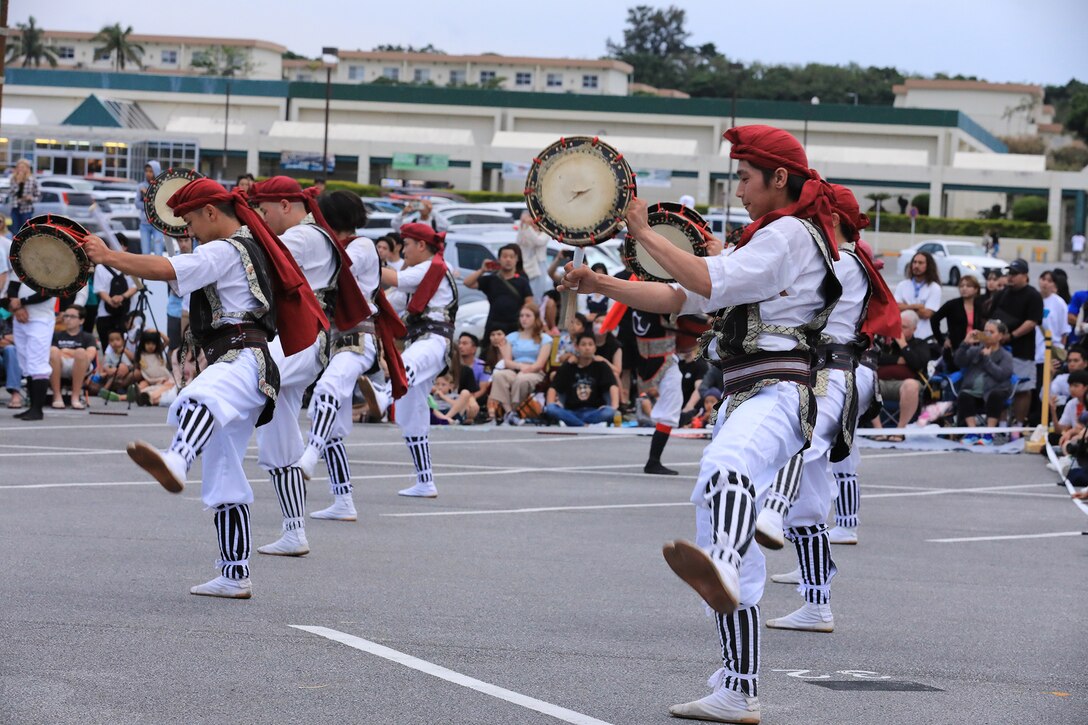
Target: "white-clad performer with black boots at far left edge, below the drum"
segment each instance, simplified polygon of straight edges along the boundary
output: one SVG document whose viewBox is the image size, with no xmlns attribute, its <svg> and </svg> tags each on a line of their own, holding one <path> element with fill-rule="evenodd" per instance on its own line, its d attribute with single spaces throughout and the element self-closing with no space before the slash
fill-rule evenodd
<svg viewBox="0 0 1088 725">
<path fill-rule="evenodd" d="M 7 256 L 3 263 L 7 267 Z M 12 336 L 15 339 L 18 369 L 29 378 L 27 392 L 30 407 L 15 414 L 21 420 L 41 420 L 45 417 L 41 410 L 49 395 L 49 376 L 52 374 L 49 348 L 57 324 L 55 304 L 55 298 L 35 292 L 12 273 L 8 281 L 7 307 L 12 314 Z M 9 380 L 8 386 L 17 388 L 18 382 Z"/>
</svg>

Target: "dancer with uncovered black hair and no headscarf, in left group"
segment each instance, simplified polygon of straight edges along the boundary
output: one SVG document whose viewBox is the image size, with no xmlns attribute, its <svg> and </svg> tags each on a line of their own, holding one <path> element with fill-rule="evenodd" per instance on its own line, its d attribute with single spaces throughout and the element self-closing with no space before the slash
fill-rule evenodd
<svg viewBox="0 0 1088 725">
<path fill-rule="evenodd" d="M 313 512 L 310 518 L 354 521 L 357 513 L 351 500 L 351 470 L 344 446 L 344 439 L 351 432 L 351 396 L 359 377 L 379 369 L 379 351 L 392 376 L 393 397 L 404 395 L 407 385 L 396 340 L 405 335 L 405 327 L 379 285 L 381 262 L 374 243 L 355 235 L 355 230 L 367 224 L 367 208 L 359 195 L 332 192 L 322 194 L 318 204 L 337 241 L 347 245 L 354 284 L 368 300 L 370 317 L 355 328 L 333 331 L 332 359 L 313 389 L 309 441 L 297 465 L 310 478 L 323 456 L 329 469 L 333 505 Z"/>
</svg>

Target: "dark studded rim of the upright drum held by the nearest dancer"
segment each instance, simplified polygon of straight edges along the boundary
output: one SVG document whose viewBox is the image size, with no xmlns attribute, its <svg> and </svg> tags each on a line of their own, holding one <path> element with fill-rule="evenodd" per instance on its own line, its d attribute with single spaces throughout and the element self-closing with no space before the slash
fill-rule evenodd
<svg viewBox="0 0 1088 725">
<path fill-rule="evenodd" d="M 579 146 L 593 146 L 602 151 L 605 161 L 616 177 L 619 188 L 619 208 L 613 208 L 613 216 L 602 220 L 596 226 L 590 230 L 571 230 L 555 222 L 548 216 L 541 202 L 541 177 L 540 170 L 546 160 L 565 152 L 570 148 Z M 597 136 L 565 136 L 549 145 L 530 164 L 529 173 L 526 175 L 526 206 L 533 216 L 533 223 L 537 224 L 542 231 L 557 242 L 570 244 L 572 246 L 593 246 L 607 242 L 616 236 L 623 224 L 623 214 L 627 212 L 631 199 L 636 194 L 634 172 L 628 164 L 627 159 L 614 146 L 601 140 Z"/>
</svg>

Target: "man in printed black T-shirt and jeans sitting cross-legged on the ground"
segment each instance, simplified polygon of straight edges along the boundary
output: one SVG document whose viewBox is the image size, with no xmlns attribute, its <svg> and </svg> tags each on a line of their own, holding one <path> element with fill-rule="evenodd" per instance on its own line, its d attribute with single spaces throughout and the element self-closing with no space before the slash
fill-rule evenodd
<svg viewBox="0 0 1088 725">
<path fill-rule="evenodd" d="M 567 426 L 610 422 L 619 406 L 619 385 L 611 366 L 597 357 L 592 332 L 578 336 L 578 354 L 564 362 L 547 390 L 544 416 Z"/>
</svg>

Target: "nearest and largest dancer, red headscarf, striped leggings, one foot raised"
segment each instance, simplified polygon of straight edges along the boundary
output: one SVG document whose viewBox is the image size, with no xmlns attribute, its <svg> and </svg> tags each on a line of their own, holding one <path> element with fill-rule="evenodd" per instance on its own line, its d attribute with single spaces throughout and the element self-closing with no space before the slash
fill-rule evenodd
<svg viewBox="0 0 1088 725">
<path fill-rule="evenodd" d="M 765 560 L 753 546 L 756 502 L 774 472 L 812 435 L 815 347 L 841 293 L 832 269 L 830 192 L 798 140 L 770 126 L 726 132 L 740 160 L 737 196 L 756 221 L 732 251 L 698 258 L 655 234 L 646 205 L 632 202 L 629 233 L 677 285 L 625 282 L 582 268 L 564 286 L 602 292 L 640 309 L 710 312 L 701 353 L 722 369 L 726 400 L 703 452 L 691 501 L 696 544 L 666 544 L 673 572 L 715 611 L 721 668 L 714 692 L 669 712 L 758 723 L 759 606 Z M 756 482 L 766 481 L 763 490 Z"/>
</svg>

